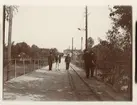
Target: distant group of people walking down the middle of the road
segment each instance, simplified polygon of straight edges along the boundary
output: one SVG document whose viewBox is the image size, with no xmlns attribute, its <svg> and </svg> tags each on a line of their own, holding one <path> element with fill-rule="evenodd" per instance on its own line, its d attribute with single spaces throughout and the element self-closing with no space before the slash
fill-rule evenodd
<svg viewBox="0 0 137 105">
<path fill-rule="evenodd" d="M 49 70 L 52 70 L 52 64 L 53 64 L 54 61 L 55 61 L 55 63 L 56 63 L 56 70 L 60 70 L 61 57 L 62 57 L 61 54 L 53 55 L 52 52 L 50 52 L 50 54 L 49 54 L 49 56 L 48 56 Z M 66 70 L 69 69 L 70 61 L 71 61 L 71 57 L 70 57 L 70 55 L 68 54 L 68 55 L 65 57 Z"/>
</svg>

